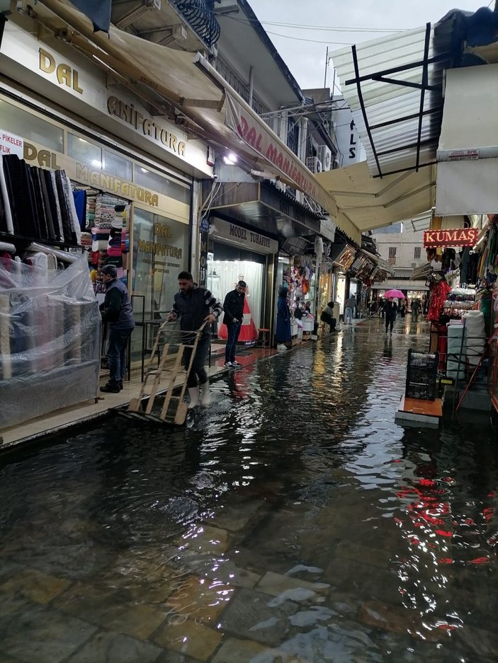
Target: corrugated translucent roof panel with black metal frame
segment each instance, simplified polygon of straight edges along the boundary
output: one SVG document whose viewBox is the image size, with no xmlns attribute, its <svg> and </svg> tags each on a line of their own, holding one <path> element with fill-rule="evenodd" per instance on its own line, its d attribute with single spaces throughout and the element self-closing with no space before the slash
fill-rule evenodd
<svg viewBox="0 0 498 663">
<path fill-rule="evenodd" d="M 452 25 L 427 23 L 332 53 L 372 176 L 434 163 Z"/>
</svg>

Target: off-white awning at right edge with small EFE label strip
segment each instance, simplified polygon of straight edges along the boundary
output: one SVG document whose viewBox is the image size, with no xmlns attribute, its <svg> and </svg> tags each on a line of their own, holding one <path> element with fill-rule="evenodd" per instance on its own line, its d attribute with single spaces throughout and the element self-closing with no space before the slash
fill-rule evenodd
<svg viewBox="0 0 498 663">
<path fill-rule="evenodd" d="M 446 74 L 436 214 L 498 210 L 498 64 Z"/>
</svg>

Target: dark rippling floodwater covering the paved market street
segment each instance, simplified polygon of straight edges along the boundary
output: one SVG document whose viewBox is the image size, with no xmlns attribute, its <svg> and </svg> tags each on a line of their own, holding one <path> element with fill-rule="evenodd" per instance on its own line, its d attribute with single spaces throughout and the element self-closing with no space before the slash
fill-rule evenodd
<svg viewBox="0 0 498 663">
<path fill-rule="evenodd" d="M 496 433 L 395 424 L 427 345 L 370 321 L 225 376 L 190 429 L 4 459 L 1 663 L 496 662 Z"/>
</svg>

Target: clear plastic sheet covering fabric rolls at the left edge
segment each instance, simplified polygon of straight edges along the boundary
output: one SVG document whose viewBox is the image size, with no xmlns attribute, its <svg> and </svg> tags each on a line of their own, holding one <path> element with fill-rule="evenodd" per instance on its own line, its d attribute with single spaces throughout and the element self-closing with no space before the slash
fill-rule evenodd
<svg viewBox="0 0 498 663">
<path fill-rule="evenodd" d="M 86 255 L 0 263 L 0 429 L 96 398 L 101 316 Z"/>
</svg>

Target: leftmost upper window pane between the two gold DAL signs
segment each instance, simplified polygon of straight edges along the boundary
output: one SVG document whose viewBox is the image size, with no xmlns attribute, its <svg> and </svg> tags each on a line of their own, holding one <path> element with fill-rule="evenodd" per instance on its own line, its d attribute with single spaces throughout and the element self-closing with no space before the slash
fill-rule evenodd
<svg viewBox="0 0 498 663">
<path fill-rule="evenodd" d="M 0 128 L 47 149 L 64 152 L 64 130 L 0 99 Z"/>
</svg>

